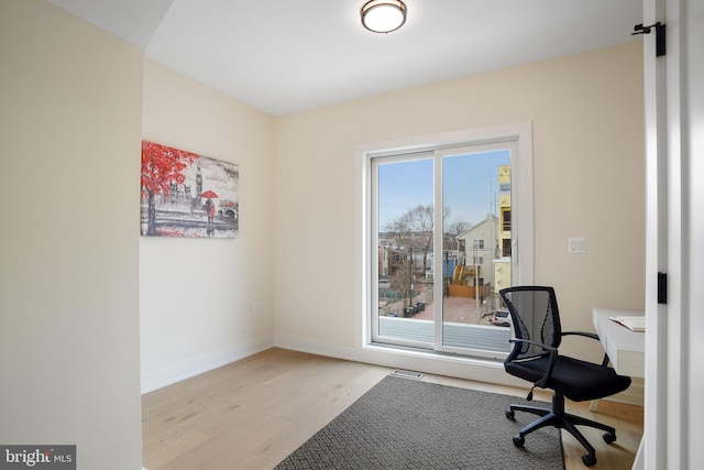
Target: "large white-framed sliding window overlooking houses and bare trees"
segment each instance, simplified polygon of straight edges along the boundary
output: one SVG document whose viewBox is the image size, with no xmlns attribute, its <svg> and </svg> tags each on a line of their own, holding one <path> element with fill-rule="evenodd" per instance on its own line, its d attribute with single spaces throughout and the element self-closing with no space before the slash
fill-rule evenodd
<svg viewBox="0 0 704 470">
<path fill-rule="evenodd" d="M 532 278 L 529 130 L 359 151 L 367 343 L 485 358 L 509 351 L 510 329 L 494 314 L 501 288 Z"/>
</svg>

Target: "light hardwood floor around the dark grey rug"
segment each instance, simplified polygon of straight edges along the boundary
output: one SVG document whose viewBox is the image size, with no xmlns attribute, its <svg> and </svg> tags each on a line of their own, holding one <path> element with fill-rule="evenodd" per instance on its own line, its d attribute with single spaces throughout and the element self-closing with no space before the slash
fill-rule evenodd
<svg viewBox="0 0 704 470">
<path fill-rule="evenodd" d="M 271 349 L 142 397 L 147 470 L 271 469 L 393 369 Z M 526 390 L 426 374 L 424 381 L 525 396 Z M 550 400 L 536 391 L 536 398 Z M 594 469 L 630 469 L 642 435 L 642 408 L 602 401 L 568 411 L 608 423 L 618 440 L 584 429 Z M 512 436 L 506 436 L 510 439 Z M 527 439 L 527 446 L 530 444 Z M 565 469 L 585 469 L 583 448 L 562 433 Z"/>
</svg>

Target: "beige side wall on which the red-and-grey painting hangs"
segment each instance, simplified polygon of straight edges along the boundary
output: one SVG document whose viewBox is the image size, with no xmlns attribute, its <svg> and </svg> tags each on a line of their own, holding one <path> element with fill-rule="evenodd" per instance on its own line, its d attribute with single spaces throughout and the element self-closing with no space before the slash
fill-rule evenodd
<svg viewBox="0 0 704 470">
<path fill-rule="evenodd" d="M 240 170 L 238 239 L 140 239 L 150 391 L 274 343 L 274 118 L 150 59 L 143 110 L 144 139 Z"/>
</svg>

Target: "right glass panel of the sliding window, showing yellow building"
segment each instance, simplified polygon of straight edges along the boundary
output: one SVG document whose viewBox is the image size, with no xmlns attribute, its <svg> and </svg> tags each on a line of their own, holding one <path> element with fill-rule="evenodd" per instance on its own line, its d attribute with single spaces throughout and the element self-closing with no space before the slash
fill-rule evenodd
<svg viewBox="0 0 704 470">
<path fill-rule="evenodd" d="M 435 349 L 506 353 L 508 318 L 501 314 L 497 285 L 510 285 L 510 253 L 502 247 L 510 247 L 512 233 L 502 220 L 510 214 L 512 149 L 480 145 L 437 154 L 443 289 L 436 303 Z"/>
</svg>

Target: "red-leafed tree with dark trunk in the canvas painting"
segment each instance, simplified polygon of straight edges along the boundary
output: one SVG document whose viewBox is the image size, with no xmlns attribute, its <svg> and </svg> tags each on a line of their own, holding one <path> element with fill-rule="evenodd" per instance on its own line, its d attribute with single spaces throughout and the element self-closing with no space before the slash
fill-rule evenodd
<svg viewBox="0 0 704 470">
<path fill-rule="evenodd" d="M 156 234 L 156 206 L 154 195 L 165 198 L 170 185 L 183 184 L 186 170 L 198 160 L 198 155 L 154 142 L 142 141 L 142 192 L 148 200 L 148 229 L 146 234 Z"/>
</svg>

